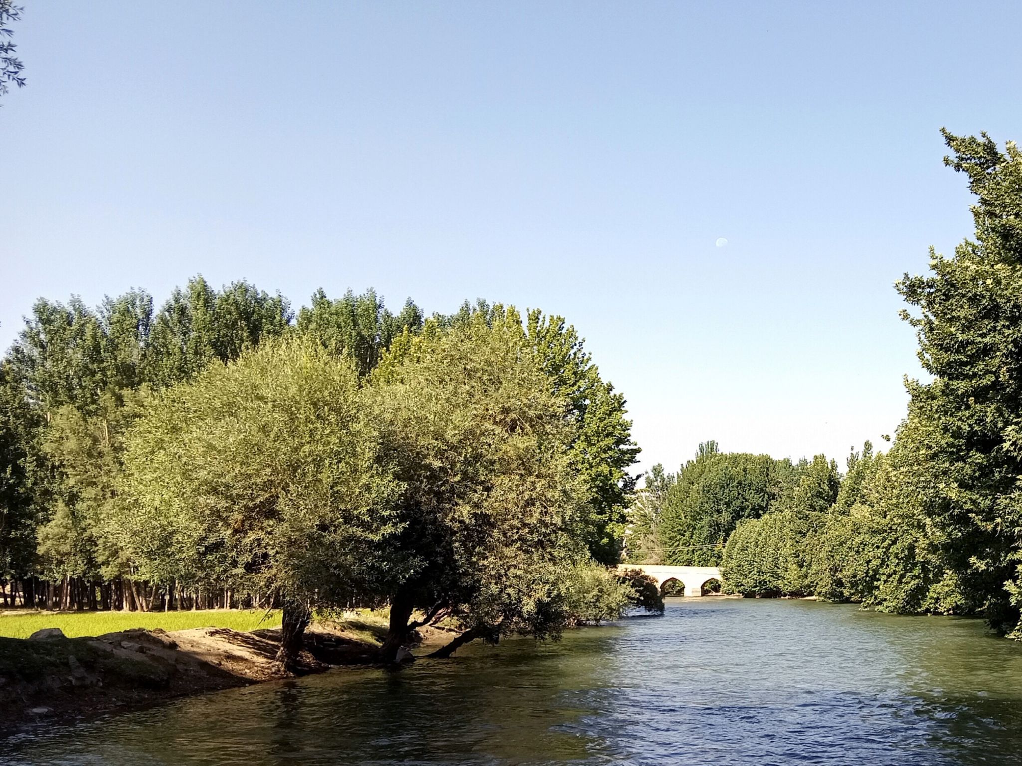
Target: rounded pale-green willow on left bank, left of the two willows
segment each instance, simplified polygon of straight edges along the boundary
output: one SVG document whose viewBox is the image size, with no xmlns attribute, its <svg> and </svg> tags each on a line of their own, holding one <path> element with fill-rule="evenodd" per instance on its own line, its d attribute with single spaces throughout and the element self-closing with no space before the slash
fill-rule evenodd
<svg viewBox="0 0 1022 766">
<path fill-rule="evenodd" d="M 379 605 L 402 575 L 377 442 L 350 361 L 265 342 L 151 398 L 128 437 L 121 543 L 154 582 L 274 593 L 289 669 L 312 609 Z"/>
</svg>

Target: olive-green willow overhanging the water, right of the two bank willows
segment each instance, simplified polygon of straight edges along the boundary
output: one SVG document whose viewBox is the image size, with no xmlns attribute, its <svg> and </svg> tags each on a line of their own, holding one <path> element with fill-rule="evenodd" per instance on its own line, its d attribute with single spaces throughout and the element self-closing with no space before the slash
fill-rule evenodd
<svg viewBox="0 0 1022 766">
<path fill-rule="evenodd" d="M 406 334 L 372 378 L 383 458 L 403 492 L 391 538 L 412 567 L 388 592 L 389 659 L 414 611 L 455 621 L 437 654 L 508 632 L 556 633 L 588 559 L 569 403 L 523 342 L 520 317 Z"/>
</svg>

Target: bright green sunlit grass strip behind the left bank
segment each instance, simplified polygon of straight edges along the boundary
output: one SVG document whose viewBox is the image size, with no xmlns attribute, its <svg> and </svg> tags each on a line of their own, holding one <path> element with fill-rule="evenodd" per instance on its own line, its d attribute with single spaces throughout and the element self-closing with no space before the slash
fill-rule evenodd
<svg viewBox="0 0 1022 766">
<path fill-rule="evenodd" d="M 152 630 L 187 630 L 188 628 L 231 628 L 232 630 L 259 630 L 280 626 L 280 612 L 267 617 L 264 611 L 202 612 L 27 612 L 0 615 L 0 636 L 28 638 L 43 628 L 60 628 L 68 638 L 85 635 L 102 635 L 119 630 L 145 628 Z"/>
</svg>

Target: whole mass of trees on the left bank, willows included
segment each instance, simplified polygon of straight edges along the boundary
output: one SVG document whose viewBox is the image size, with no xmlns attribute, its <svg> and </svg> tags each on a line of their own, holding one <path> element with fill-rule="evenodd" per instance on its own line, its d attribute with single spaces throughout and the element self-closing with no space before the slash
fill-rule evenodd
<svg viewBox="0 0 1022 766">
<path fill-rule="evenodd" d="M 547 635 L 568 584 L 604 616 L 636 590 L 601 568 L 634 486 L 624 400 L 539 310 L 321 290 L 295 317 L 200 277 L 158 310 L 41 299 L 0 408 L 8 605 L 279 605 L 293 655 L 312 610 L 386 604 L 393 654 L 413 614 Z"/>
</svg>

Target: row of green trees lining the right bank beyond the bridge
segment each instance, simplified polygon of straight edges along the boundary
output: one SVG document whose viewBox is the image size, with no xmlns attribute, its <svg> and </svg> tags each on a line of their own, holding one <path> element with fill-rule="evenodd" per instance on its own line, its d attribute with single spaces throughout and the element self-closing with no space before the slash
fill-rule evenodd
<svg viewBox="0 0 1022 766">
<path fill-rule="evenodd" d="M 931 376 L 886 453 L 867 443 L 840 476 L 704 445 L 657 469 L 630 550 L 719 563 L 747 595 L 816 594 L 897 613 L 985 617 L 1022 637 L 1022 152 L 944 132 L 944 161 L 975 195 L 975 238 L 897 284 Z"/>
</svg>

